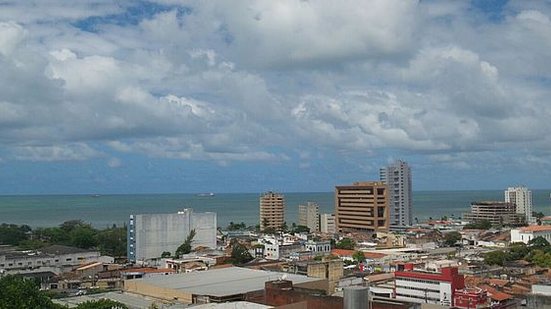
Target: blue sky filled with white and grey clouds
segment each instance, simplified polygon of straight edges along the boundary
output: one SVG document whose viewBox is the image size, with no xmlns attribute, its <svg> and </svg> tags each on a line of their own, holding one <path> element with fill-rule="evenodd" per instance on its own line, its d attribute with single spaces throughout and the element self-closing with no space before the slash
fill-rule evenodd
<svg viewBox="0 0 551 309">
<path fill-rule="evenodd" d="M 2 1 L 0 194 L 551 188 L 550 50 L 550 1 Z"/>
</svg>

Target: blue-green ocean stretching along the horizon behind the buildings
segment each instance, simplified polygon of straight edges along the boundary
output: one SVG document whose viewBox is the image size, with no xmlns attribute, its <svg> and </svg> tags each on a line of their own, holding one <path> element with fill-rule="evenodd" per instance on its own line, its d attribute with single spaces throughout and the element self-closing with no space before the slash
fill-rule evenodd
<svg viewBox="0 0 551 309">
<path fill-rule="evenodd" d="M 551 190 L 532 190 L 534 211 L 551 215 Z M 316 202 L 321 213 L 334 209 L 334 192 L 284 193 L 288 225 L 298 221 L 298 205 Z M 124 194 L 124 195 L 5 195 L 0 196 L 0 223 L 27 224 L 31 227 L 57 226 L 81 219 L 97 228 L 122 225 L 130 214 L 175 213 L 184 208 L 196 212 L 216 212 L 218 226 L 229 222 L 258 224 L 256 193 Z M 413 216 L 461 216 L 472 201 L 503 200 L 503 191 L 417 191 L 413 193 Z"/>
</svg>

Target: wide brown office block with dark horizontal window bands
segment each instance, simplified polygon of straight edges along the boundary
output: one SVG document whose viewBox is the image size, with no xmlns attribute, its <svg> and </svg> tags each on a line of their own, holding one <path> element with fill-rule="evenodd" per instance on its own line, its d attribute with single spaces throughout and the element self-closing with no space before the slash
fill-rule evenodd
<svg viewBox="0 0 551 309">
<path fill-rule="evenodd" d="M 355 182 L 335 187 L 335 227 L 338 232 L 386 231 L 389 228 L 387 186 Z"/>
</svg>

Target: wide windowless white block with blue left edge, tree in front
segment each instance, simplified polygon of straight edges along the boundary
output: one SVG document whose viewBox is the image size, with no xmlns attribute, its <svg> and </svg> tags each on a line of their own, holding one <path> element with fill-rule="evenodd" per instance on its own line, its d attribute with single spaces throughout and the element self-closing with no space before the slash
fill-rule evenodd
<svg viewBox="0 0 551 309">
<path fill-rule="evenodd" d="M 195 230 L 192 248 L 216 248 L 216 213 L 184 209 L 175 214 L 130 215 L 128 259 L 146 262 L 163 252 L 174 254 L 191 230 Z"/>
</svg>

